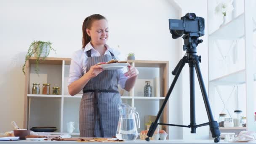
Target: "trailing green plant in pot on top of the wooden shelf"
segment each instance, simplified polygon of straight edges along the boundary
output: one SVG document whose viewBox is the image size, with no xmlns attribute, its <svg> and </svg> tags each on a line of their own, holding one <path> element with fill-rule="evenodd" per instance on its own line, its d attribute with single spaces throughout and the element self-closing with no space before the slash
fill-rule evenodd
<svg viewBox="0 0 256 144">
<path fill-rule="evenodd" d="M 56 50 L 52 48 L 52 43 L 51 42 L 44 42 L 44 41 L 33 41 L 29 45 L 29 49 L 27 51 L 26 57 L 25 57 L 25 63 L 22 67 L 22 71 L 25 75 L 25 67 L 26 67 L 26 61 L 29 60 L 31 57 L 36 58 L 36 65 L 35 65 L 35 72 L 38 74 L 39 72 L 39 60 L 40 57 L 44 61 L 47 56 L 49 56 L 50 51 L 54 51 L 56 53 Z"/>
</svg>

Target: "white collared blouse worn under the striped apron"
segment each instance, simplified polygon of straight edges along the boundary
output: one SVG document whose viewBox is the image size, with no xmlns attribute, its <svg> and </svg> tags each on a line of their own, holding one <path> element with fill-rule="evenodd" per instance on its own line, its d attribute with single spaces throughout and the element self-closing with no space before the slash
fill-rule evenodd
<svg viewBox="0 0 256 144">
<path fill-rule="evenodd" d="M 120 52 L 110 48 L 108 45 L 105 45 L 107 50 L 105 52 L 105 54 L 110 55 L 109 51 L 111 51 L 111 53 L 113 53 L 115 55 L 115 57 L 120 60 L 118 58 Z M 100 53 L 98 51 L 96 51 L 93 46 L 91 45 L 91 42 L 88 43 L 85 48 L 82 48 L 78 51 L 75 51 L 72 54 L 72 58 L 71 58 L 71 64 L 70 64 L 70 69 L 69 69 L 69 79 L 68 79 L 68 85 L 70 85 L 71 83 L 73 83 L 75 80 L 78 80 L 80 77 L 82 77 L 85 73 L 86 73 L 86 67 L 87 67 L 87 54 L 86 51 L 91 50 L 91 56 L 100 56 Z M 128 79 L 127 77 L 125 77 L 124 73 L 127 72 L 126 68 L 123 69 L 119 69 L 121 70 L 120 72 L 120 78 L 119 78 L 119 84 L 121 86 L 121 88 L 125 87 L 125 82 Z"/>
</svg>

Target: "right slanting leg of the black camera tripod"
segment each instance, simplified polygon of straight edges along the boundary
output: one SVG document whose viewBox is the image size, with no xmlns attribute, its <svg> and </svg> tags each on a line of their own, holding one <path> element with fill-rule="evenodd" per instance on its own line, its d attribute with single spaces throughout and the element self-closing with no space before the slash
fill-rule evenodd
<svg viewBox="0 0 256 144">
<path fill-rule="evenodd" d="M 210 104 L 209 104 L 207 92 L 205 90 L 205 85 L 203 83 L 203 77 L 202 77 L 200 67 L 199 67 L 199 58 L 198 58 L 198 56 L 195 56 L 194 58 L 195 58 L 194 59 L 195 70 L 197 72 L 197 78 L 198 78 L 199 85 L 200 85 L 200 88 L 201 88 L 201 92 L 202 92 L 202 95 L 203 95 L 203 101 L 205 103 L 205 108 L 206 108 L 206 112 L 207 112 L 208 119 L 209 119 L 209 126 L 210 126 L 210 130 L 211 130 L 211 134 L 212 134 L 212 137 L 215 138 L 214 142 L 219 142 L 219 136 L 221 134 L 220 131 L 219 131 L 219 124 L 217 123 L 217 121 L 215 121 L 213 119 L 213 115 L 212 115 L 212 112 L 211 112 L 211 107 L 210 107 Z"/>
</svg>

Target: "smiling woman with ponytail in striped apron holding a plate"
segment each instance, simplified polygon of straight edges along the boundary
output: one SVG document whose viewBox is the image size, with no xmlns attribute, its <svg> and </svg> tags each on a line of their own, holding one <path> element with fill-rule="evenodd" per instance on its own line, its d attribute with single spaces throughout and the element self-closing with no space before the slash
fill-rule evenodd
<svg viewBox="0 0 256 144">
<path fill-rule="evenodd" d="M 79 112 L 81 137 L 115 136 L 118 105 L 122 103 L 117 85 L 131 91 L 139 74 L 133 66 L 128 66 L 125 72 L 103 70 L 96 65 L 117 59 L 117 52 L 106 44 L 107 39 L 107 19 L 99 14 L 88 16 L 83 22 L 83 48 L 72 56 L 68 80 L 71 96 L 83 90 Z"/>
</svg>

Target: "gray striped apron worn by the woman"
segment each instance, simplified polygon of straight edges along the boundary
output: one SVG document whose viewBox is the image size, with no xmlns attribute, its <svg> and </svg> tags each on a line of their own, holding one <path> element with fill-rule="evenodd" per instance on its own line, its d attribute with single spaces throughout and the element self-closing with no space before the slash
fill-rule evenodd
<svg viewBox="0 0 256 144">
<path fill-rule="evenodd" d="M 98 62 L 116 59 L 113 53 L 111 56 L 91 57 L 91 50 L 87 51 L 87 56 L 86 72 Z M 81 137 L 112 137 L 116 135 L 119 119 L 118 106 L 122 103 L 118 92 L 120 72 L 118 69 L 104 70 L 89 80 L 83 88 L 79 112 Z"/>
</svg>

